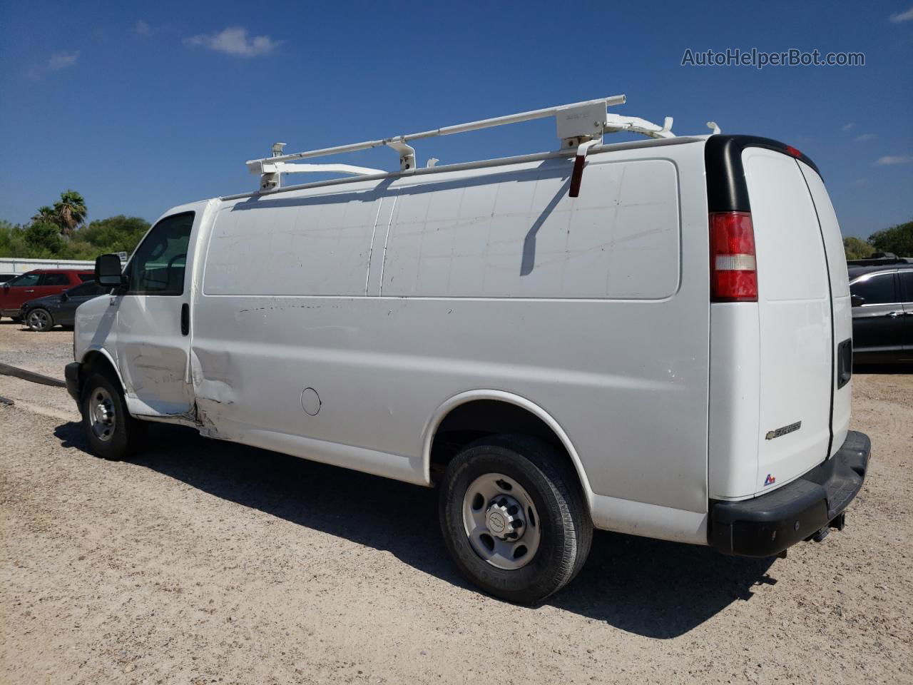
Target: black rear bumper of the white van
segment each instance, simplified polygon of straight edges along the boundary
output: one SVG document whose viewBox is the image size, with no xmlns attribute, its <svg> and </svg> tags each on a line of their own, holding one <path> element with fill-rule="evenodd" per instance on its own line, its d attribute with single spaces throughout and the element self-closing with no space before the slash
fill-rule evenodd
<svg viewBox="0 0 913 685">
<path fill-rule="evenodd" d="M 838 519 L 866 479 L 872 443 L 851 430 L 834 457 L 778 490 L 710 510 L 710 546 L 725 554 L 772 556 Z"/>
</svg>

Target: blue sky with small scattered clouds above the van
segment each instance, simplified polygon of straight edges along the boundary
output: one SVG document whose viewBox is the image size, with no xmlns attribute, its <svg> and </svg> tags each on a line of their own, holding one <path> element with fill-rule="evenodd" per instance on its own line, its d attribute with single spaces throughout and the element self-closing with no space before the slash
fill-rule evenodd
<svg viewBox="0 0 913 685">
<path fill-rule="evenodd" d="M 683 67 L 686 48 L 863 52 L 865 67 Z M 913 218 L 913 0 L 0 2 L 0 218 L 60 191 L 154 219 L 254 189 L 247 159 L 625 93 L 679 134 L 751 133 L 821 168 L 845 235 Z M 613 140 L 612 136 L 608 140 Z M 622 139 L 617 139 L 622 140 Z M 552 120 L 416 144 L 442 163 L 556 146 Z M 349 155 L 393 170 L 394 153 Z"/>
</svg>

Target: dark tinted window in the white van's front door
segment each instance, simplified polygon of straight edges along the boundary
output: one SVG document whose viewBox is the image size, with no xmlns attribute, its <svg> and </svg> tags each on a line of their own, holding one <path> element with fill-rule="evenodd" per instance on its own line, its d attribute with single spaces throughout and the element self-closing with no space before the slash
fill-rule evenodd
<svg viewBox="0 0 913 685">
<path fill-rule="evenodd" d="M 133 252 L 128 295 L 182 295 L 194 213 L 166 216 Z"/>
</svg>

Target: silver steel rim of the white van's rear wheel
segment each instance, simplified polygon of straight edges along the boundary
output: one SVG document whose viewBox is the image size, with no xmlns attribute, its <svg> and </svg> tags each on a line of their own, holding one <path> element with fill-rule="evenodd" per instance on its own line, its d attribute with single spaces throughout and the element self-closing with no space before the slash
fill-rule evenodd
<svg viewBox="0 0 913 685">
<path fill-rule="evenodd" d="M 530 494 L 503 473 L 473 480 L 463 495 L 463 527 L 473 552 L 496 568 L 529 564 L 541 540 L 539 512 Z"/>
</svg>

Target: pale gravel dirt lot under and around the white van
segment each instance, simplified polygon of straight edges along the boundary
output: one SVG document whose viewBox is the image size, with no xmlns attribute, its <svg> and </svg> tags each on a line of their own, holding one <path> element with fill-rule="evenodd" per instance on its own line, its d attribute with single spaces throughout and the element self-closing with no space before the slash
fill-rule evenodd
<svg viewBox="0 0 913 685">
<path fill-rule="evenodd" d="M 0 321 L 62 377 L 71 332 Z M 544 606 L 456 575 L 435 492 L 154 427 L 93 458 L 63 389 L 0 376 L 4 683 L 913 682 L 913 374 L 857 374 L 873 463 L 786 559 L 597 533 Z"/>
</svg>

